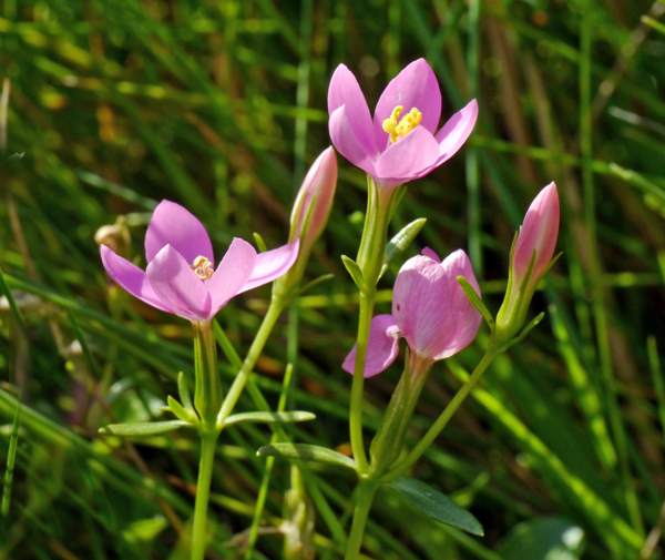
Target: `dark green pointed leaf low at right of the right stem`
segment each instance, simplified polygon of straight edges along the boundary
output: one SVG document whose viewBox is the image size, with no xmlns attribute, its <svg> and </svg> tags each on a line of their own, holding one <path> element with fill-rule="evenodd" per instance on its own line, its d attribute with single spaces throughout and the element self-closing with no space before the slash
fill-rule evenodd
<svg viewBox="0 0 665 560">
<path fill-rule="evenodd" d="M 447 525 L 482 537 L 482 526 L 469 511 L 448 496 L 413 478 L 400 477 L 383 486 L 399 495 L 409 506 L 437 523 Z"/>
</svg>

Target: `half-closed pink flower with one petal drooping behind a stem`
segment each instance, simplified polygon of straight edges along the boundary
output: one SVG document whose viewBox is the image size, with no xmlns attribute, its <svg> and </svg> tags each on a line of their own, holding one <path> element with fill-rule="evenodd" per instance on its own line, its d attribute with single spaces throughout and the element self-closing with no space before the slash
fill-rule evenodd
<svg viewBox="0 0 665 560">
<path fill-rule="evenodd" d="M 463 276 L 480 295 L 467 254 L 458 250 L 440 261 L 426 248 L 400 268 L 392 291 L 392 314 L 371 320 L 365 377 L 380 374 L 399 353 L 405 337 L 412 353 L 428 360 L 448 358 L 469 346 L 480 327 L 480 313 L 471 305 L 457 277 Z M 354 371 L 356 348 L 344 360 Z"/>
</svg>

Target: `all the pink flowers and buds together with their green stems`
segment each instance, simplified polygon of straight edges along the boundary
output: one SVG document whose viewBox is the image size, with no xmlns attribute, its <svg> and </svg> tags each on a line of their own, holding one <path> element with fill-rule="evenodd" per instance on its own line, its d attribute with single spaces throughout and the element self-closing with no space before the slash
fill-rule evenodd
<svg viewBox="0 0 665 560">
<path fill-rule="evenodd" d="M 376 286 L 389 261 L 387 232 L 405 191 L 402 185 L 428 175 L 462 147 L 475 126 L 478 103 L 471 100 L 440 126 L 439 84 L 429 64 L 419 59 L 390 81 L 379 96 L 374 115 L 355 75 L 340 64 L 330 80 L 328 111 L 334 147 L 368 175 L 368 210 L 358 255 L 356 259 L 342 257 L 358 287 L 359 299 L 356 345 L 342 363 L 342 368 L 354 376 L 349 411 L 354 457 L 311 445 L 306 449 L 295 444 L 283 446 L 291 446 L 286 458 L 313 457 L 313 460 L 352 468 L 358 474 L 357 508 L 346 556 L 355 560 L 359 558 L 366 518 L 378 486 L 397 479 L 418 460 L 494 356 L 520 340 L 536 323 L 538 318 L 524 327 L 533 293 L 553 263 L 560 207 L 554 183 L 545 186 L 529 207 L 510 252 L 508 287 L 495 319 L 481 299 L 471 261 L 462 250 L 441 259 L 432 250 L 424 248 L 408 258 L 395 281 L 390 314 L 375 315 Z M 129 248 L 129 236 L 119 236 L 115 230 L 111 232 L 113 235 L 109 233 L 111 230 L 100 231 L 101 258 L 109 276 L 142 302 L 194 325 L 194 399 L 190 398 L 184 374 L 178 378 L 181 401 L 173 397 L 167 399 L 167 409 L 178 420 L 130 429 L 115 425 L 114 431 L 119 434 L 124 429 L 125 434 L 135 435 L 137 429 L 143 434 L 181 426 L 198 429 L 201 464 L 192 560 L 203 560 L 205 556 L 206 508 L 214 446 L 219 432 L 239 421 L 301 421 L 314 417 L 306 411 L 232 413 L 270 330 L 299 293 L 313 245 L 328 221 L 336 184 L 337 160 L 334 149 L 328 147 L 309 169 L 296 196 L 288 242 L 272 251 L 257 252 L 246 241 L 234 237 L 218 264 L 202 223 L 171 201 L 162 201 L 150 221 L 144 241 L 145 271 L 119 254 Z M 396 245 L 406 250 L 416 234 L 410 231 L 398 234 Z M 122 243 L 112 243 L 115 238 Z M 273 281 L 276 282 L 268 310 L 233 385 L 223 395 L 211 320 L 236 295 Z M 418 444 L 408 450 L 407 427 L 427 374 L 436 362 L 467 348 L 475 339 L 483 318 L 490 328 L 484 357 Z M 362 384 L 365 378 L 385 371 L 397 359 L 402 338 L 408 346 L 405 370 L 368 456 L 364 444 Z M 275 449 L 270 452 L 275 454 Z M 297 482 L 297 472 L 291 475 Z M 289 496 L 295 500 L 296 508 L 291 509 L 299 512 L 300 521 L 293 525 L 289 539 L 298 542 L 287 542 L 287 551 L 298 550 L 304 546 L 303 540 L 314 534 L 304 487 L 295 486 Z M 286 557 L 291 558 L 291 552 Z"/>
</svg>

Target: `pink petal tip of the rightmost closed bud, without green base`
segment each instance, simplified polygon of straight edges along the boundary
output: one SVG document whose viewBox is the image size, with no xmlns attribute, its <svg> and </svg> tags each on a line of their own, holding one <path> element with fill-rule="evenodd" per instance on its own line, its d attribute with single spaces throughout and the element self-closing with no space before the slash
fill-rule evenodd
<svg viewBox="0 0 665 560">
<path fill-rule="evenodd" d="M 529 206 L 515 243 L 512 272 L 520 283 L 533 262 L 532 276 L 538 282 L 550 265 L 559 235 L 559 193 L 556 184 L 545 186 Z"/>
</svg>

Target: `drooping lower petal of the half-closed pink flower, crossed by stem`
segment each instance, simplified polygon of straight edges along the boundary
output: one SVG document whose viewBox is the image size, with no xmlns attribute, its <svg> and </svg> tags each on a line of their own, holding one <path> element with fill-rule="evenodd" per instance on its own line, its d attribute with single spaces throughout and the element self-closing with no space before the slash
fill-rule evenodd
<svg viewBox="0 0 665 560">
<path fill-rule="evenodd" d="M 369 326 L 367 355 L 365 357 L 365 377 L 374 377 L 388 369 L 399 354 L 399 329 L 392 315 L 377 315 Z M 354 374 L 356 367 L 356 346 L 341 365 L 345 371 Z"/>
</svg>

